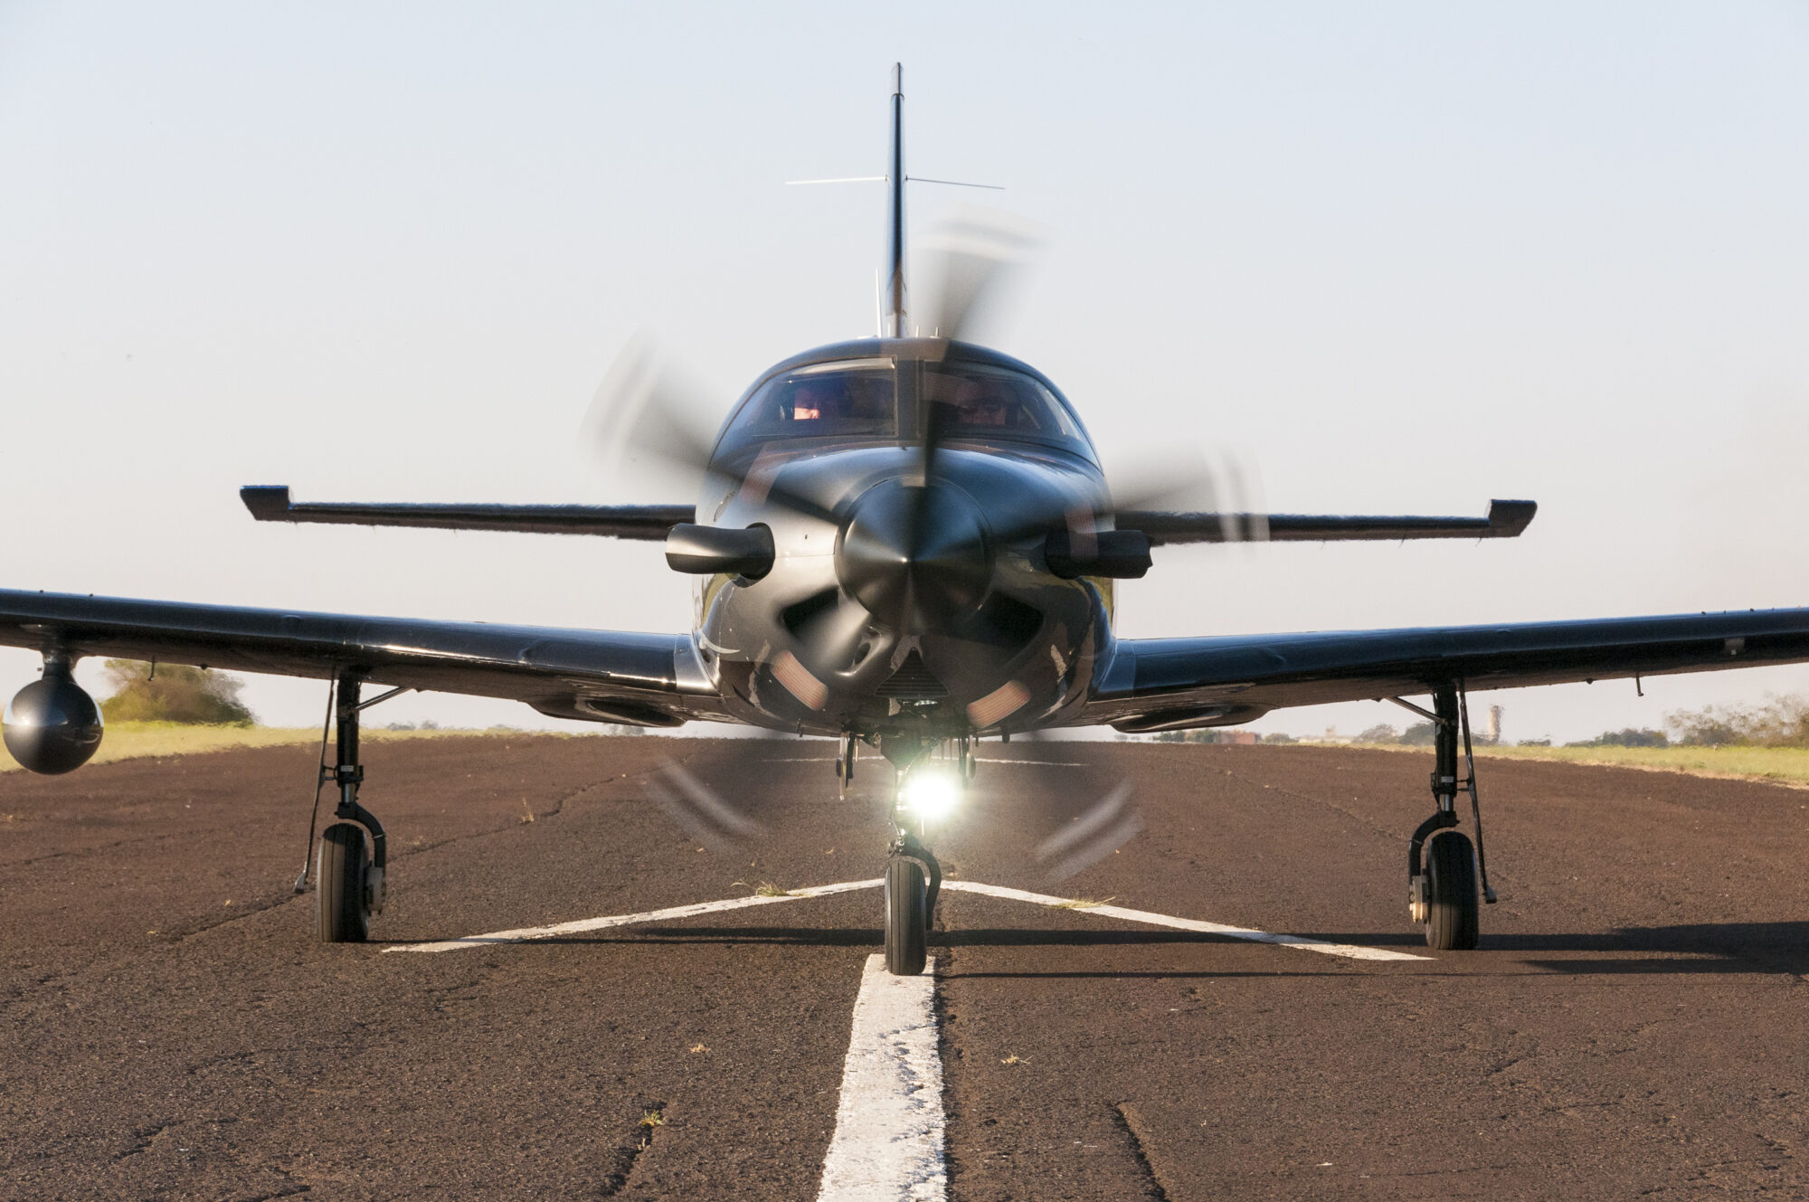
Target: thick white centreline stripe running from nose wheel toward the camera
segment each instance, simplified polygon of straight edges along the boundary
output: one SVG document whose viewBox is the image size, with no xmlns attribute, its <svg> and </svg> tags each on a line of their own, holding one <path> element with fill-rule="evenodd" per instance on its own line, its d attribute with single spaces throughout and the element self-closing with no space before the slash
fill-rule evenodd
<svg viewBox="0 0 1809 1202">
<path fill-rule="evenodd" d="M 867 958 L 818 1202 L 948 1197 L 933 967 L 895 978 Z"/>
</svg>

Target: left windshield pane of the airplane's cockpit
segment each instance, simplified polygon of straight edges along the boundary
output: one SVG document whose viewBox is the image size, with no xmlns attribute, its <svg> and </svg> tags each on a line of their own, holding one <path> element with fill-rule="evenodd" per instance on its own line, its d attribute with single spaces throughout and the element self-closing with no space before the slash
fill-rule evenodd
<svg viewBox="0 0 1809 1202">
<path fill-rule="evenodd" d="M 722 445 L 769 438 L 895 438 L 897 387 L 890 360 L 812 364 L 772 377 L 742 405 Z"/>
</svg>

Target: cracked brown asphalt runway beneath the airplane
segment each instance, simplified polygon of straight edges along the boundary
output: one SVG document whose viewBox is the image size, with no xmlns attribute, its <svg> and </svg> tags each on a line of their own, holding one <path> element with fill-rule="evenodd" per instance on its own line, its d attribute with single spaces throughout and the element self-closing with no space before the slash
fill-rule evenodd
<svg viewBox="0 0 1809 1202">
<path fill-rule="evenodd" d="M 731 820 L 649 800 L 675 755 Z M 393 891 L 362 947 L 289 891 L 313 748 L 0 775 L 0 1197 L 819 1197 L 897 1101 L 850 1055 L 890 1014 L 857 887 L 888 769 L 841 800 L 832 755 L 369 744 Z M 1429 755 L 982 757 L 1033 762 L 982 762 L 932 844 L 961 885 L 921 997 L 941 1099 L 917 1064 L 906 1101 L 937 1160 L 872 1197 L 1809 1193 L 1809 793 L 1483 762 L 1501 902 L 1433 954 L 1404 880 Z"/>
</svg>

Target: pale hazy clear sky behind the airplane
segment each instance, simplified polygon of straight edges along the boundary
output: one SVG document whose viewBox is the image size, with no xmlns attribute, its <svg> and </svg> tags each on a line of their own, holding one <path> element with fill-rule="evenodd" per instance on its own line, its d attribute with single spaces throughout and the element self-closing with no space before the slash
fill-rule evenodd
<svg viewBox="0 0 1809 1202">
<path fill-rule="evenodd" d="M 1539 501 L 1512 543 L 1158 550 L 1120 634 L 1809 605 L 1804 5 L 753 7 L 0 0 L 0 585 L 684 628 L 657 543 L 235 491 L 689 500 L 601 478 L 590 396 L 637 328 L 724 405 L 872 333 L 881 186 L 783 181 L 885 168 L 903 60 L 912 170 L 1049 230 L 995 342 L 1109 454 L 1237 451 L 1275 510 Z M 1767 690 L 1809 668 L 1478 701 L 1579 739 Z"/>
</svg>

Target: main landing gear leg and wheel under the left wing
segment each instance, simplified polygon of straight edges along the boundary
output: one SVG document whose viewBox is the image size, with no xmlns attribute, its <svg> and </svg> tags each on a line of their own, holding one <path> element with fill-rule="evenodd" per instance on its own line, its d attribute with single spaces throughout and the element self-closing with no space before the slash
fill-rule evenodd
<svg viewBox="0 0 1809 1202">
<path fill-rule="evenodd" d="M 338 757 L 322 766 L 322 784 L 338 786 L 333 811 L 338 822 L 320 835 L 317 860 L 315 916 L 322 943 L 364 943 L 371 936 L 371 916 L 384 912 L 384 869 L 389 865 L 389 840 L 384 824 L 358 804 L 364 764 L 358 762 L 358 690 L 362 681 L 346 673 L 338 679 Z M 371 847 L 365 851 L 365 831 Z"/>
</svg>

